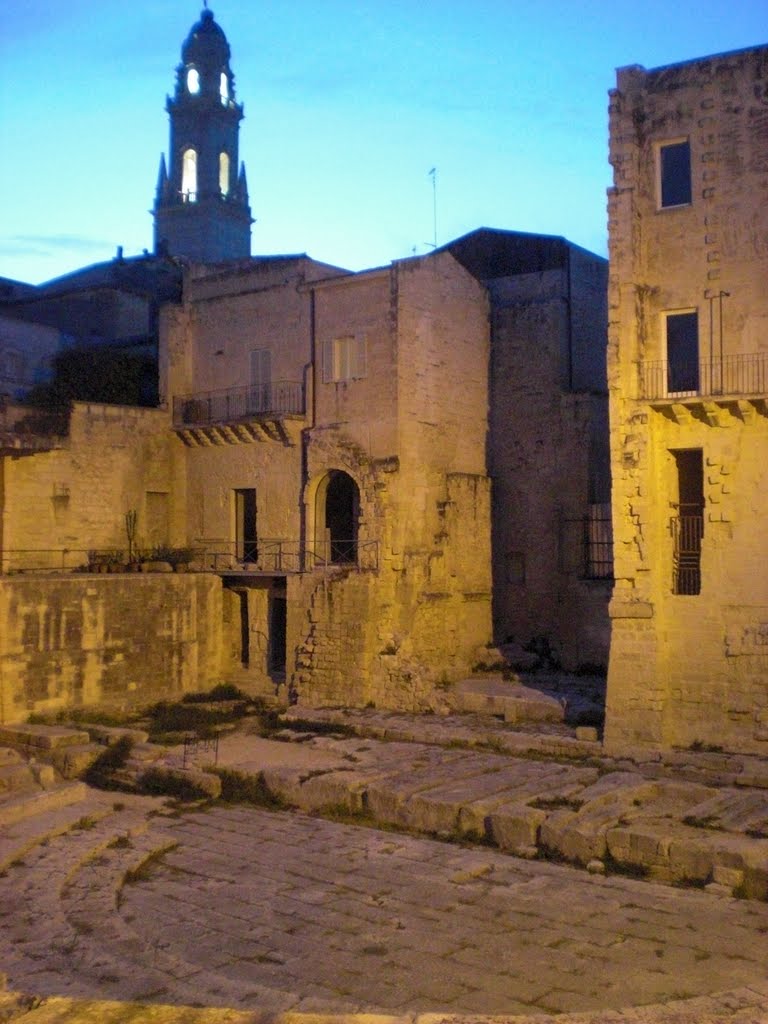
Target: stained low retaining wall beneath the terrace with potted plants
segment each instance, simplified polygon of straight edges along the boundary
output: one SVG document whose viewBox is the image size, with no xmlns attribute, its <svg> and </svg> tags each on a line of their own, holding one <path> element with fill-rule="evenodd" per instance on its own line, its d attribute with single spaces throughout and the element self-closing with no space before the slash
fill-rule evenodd
<svg viewBox="0 0 768 1024">
<path fill-rule="evenodd" d="M 213 575 L 6 577 L 0 622 L 0 722 L 133 708 L 221 678 Z"/>
</svg>

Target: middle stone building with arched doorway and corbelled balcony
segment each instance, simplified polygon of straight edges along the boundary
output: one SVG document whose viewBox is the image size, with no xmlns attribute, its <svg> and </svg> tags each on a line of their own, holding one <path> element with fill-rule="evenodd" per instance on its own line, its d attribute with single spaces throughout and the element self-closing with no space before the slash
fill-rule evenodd
<svg viewBox="0 0 768 1024">
<path fill-rule="evenodd" d="M 490 640 L 484 289 L 447 253 L 257 259 L 196 270 L 166 332 L 187 536 L 231 561 L 229 674 L 430 707 Z"/>
</svg>

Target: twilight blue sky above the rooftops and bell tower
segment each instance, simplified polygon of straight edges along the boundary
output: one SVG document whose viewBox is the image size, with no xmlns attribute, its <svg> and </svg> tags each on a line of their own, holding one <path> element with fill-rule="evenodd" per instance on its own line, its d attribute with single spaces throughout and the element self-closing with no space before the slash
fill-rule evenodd
<svg viewBox="0 0 768 1024">
<path fill-rule="evenodd" d="M 360 269 L 481 225 L 605 253 L 607 90 L 768 41 L 768 0 L 210 0 L 245 103 L 253 252 Z M 7 0 L 0 276 L 152 248 L 164 104 L 202 0 Z"/>
</svg>

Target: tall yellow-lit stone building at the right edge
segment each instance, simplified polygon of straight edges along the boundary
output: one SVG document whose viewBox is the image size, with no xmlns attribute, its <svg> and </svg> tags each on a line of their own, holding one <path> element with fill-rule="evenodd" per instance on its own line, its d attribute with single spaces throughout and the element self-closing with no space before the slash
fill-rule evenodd
<svg viewBox="0 0 768 1024">
<path fill-rule="evenodd" d="M 605 742 L 768 750 L 768 46 L 610 95 Z"/>
</svg>

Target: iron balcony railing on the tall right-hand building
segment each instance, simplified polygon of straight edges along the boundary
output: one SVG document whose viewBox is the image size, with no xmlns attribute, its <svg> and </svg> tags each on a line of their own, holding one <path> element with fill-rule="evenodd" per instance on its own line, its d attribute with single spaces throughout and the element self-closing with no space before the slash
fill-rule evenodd
<svg viewBox="0 0 768 1024">
<path fill-rule="evenodd" d="M 768 394 L 768 352 L 700 362 L 655 359 L 640 364 L 642 398 Z"/>
</svg>

